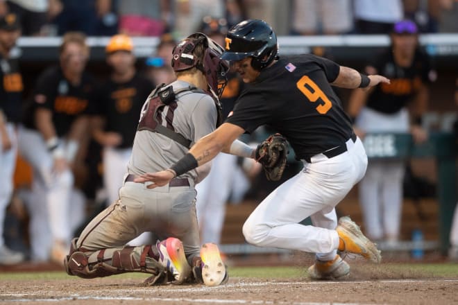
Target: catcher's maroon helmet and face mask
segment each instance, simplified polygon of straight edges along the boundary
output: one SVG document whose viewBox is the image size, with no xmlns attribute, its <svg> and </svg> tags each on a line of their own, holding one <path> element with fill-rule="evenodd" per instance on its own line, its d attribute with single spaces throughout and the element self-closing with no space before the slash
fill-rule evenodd
<svg viewBox="0 0 458 305">
<path fill-rule="evenodd" d="M 194 49 L 199 44 L 203 44 L 205 49 L 202 58 L 194 55 Z M 229 70 L 229 63 L 220 58 L 223 51 L 223 48 L 207 35 L 194 33 L 173 48 L 171 66 L 173 71 L 185 71 L 196 67 L 207 78 L 209 91 L 220 98 L 228 82 L 226 73 Z"/>
</svg>

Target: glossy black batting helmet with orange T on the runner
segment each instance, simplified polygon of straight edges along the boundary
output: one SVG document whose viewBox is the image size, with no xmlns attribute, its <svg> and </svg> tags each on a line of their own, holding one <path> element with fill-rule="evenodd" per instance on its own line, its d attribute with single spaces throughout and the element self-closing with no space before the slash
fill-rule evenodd
<svg viewBox="0 0 458 305">
<path fill-rule="evenodd" d="M 223 60 L 253 57 L 251 65 L 260 70 L 278 58 L 277 36 L 264 20 L 245 20 L 230 28 L 226 35 Z"/>
</svg>

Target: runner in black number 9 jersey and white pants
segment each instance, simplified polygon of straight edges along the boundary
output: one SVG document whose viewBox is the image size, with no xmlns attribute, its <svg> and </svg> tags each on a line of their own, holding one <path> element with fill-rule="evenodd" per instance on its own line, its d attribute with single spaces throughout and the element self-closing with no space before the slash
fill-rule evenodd
<svg viewBox="0 0 458 305">
<path fill-rule="evenodd" d="M 151 189 L 163 187 L 209 162 L 221 150 L 234 150 L 237 137 L 267 124 L 287 138 L 304 168 L 269 194 L 248 217 L 242 230 L 246 241 L 316 253 L 316 262 L 309 268 L 314 279 L 348 275 L 350 267 L 337 250 L 380 262 L 380 251 L 349 217 L 337 221 L 334 207 L 364 176 L 367 156 L 331 84 L 373 87 L 389 80 L 364 76 L 310 54 L 278 58 L 275 33 L 262 20 L 233 26 L 221 58 L 232 60 L 244 82 L 251 83 L 232 116 L 173 166 L 145 173 L 135 182 L 153 182 L 148 186 Z M 244 156 L 254 157 L 256 151 L 248 148 Z M 307 217 L 313 225 L 300 224 Z"/>
</svg>

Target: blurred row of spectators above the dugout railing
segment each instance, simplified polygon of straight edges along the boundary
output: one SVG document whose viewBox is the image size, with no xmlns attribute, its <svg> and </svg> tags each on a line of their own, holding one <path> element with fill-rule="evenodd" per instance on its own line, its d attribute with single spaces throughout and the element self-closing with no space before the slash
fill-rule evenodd
<svg viewBox="0 0 458 305">
<path fill-rule="evenodd" d="M 455 0 L 1 0 L 0 15 L 6 12 L 21 17 L 26 36 L 77 30 L 91 36 L 185 37 L 206 15 L 224 17 L 228 26 L 264 19 L 277 35 L 384 34 L 405 17 L 421 33 L 458 29 Z"/>
</svg>

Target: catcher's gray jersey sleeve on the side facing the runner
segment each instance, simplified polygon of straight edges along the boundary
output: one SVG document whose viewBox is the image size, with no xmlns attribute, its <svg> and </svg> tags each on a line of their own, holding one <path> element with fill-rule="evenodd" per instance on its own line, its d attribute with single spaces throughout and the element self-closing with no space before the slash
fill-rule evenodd
<svg viewBox="0 0 458 305">
<path fill-rule="evenodd" d="M 194 126 L 194 139 L 196 142 L 201 137 L 210 134 L 217 125 L 217 107 L 210 96 L 203 95 L 198 101 L 191 114 L 192 126 Z"/>
</svg>

